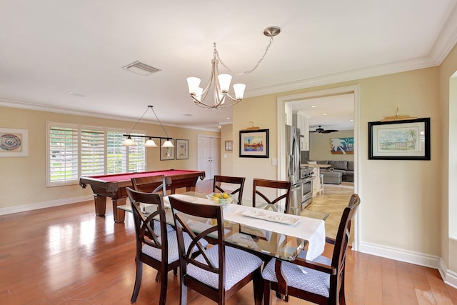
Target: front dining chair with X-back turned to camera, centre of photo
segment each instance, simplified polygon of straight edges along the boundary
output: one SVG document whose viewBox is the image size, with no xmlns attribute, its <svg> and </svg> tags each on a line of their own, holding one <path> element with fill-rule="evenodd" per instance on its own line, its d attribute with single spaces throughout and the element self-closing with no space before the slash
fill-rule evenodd
<svg viewBox="0 0 457 305">
<path fill-rule="evenodd" d="M 178 235 L 181 296 L 180 304 L 187 304 L 187 289 L 193 289 L 218 304 L 225 304 L 226 299 L 236 293 L 250 281 L 256 304 L 261 304 L 262 279 L 261 259 L 258 256 L 226 246 L 224 236 L 224 216 L 221 206 L 214 204 L 194 204 L 170 198 L 176 233 Z M 201 233 L 192 231 L 186 219 L 189 217 L 211 219 Z M 193 226 L 194 224 L 192 224 Z M 188 250 L 184 245 L 183 234 L 191 236 L 192 244 Z M 213 246 L 205 249 L 201 242 L 212 239 Z M 191 255 L 196 249 L 197 256 Z"/>
</svg>

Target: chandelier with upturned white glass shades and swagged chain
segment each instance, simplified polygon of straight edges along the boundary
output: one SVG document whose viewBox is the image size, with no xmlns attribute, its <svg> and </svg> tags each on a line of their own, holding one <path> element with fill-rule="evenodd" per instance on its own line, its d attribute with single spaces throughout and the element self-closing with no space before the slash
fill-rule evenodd
<svg viewBox="0 0 457 305">
<path fill-rule="evenodd" d="M 245 84 L 233 84 L 233 91 L 235 93 L 235 96 L 231 96 L 229 94 L 229 89 L 230 89 L 230 82 L 232 76 L 230 74 L 219 74 L 219 69 L 218 65 L 221 63 L 222 66 L 224 66 L 227 70 L 229 70 L 231 73 L 236 74 L 236 75 L 243 75 L 243 74 L 249 74 L 255 69 L 257 69 L 258 64 L 263 61 L 263 58 L 266 56 L 266 53 L 268 52 L 268 49 L 270 49 L 271 44 L 273 44 L 273 36 L 278 35 L 281 32 L 281 29 L 278 26 L 270 26 L 263 30 L 263 35 L 270 37 L 270 43 L 268 46 L 266 46 L 265 53 L 263 53 L 263 56 L 261 59 L 257 62 L 257 64 L 253 67 L 253 69 L 249 71 L 244 71 L 244 72 L 233 72 L 231 69 L 229 69 L 226 64 L 224 64 L 224 61 L 221 60 L 219 57 L 219 53 L 216 49 L 216 43 L 213 43 L 214 51 L 213 51 L 213 59 L 211 60 L 211 75 L 209 77 L 208 84 L 206 84 L 205 89 L 203 89 L 200 86 L 201 79 L 198 77 L 188 77 L 187 78 L 187 84 L 189 86 L 189 94 L 191 94 L 191 98 L 194 100 L 194 103 L 197 106 L 200 106 L 202 108 L 225 108 L 225 107 L 230 107 L 235 104 L 238 104 L 242 99 L 244 95 L 244 89 L 246 89 Z M 204 100 L 206 99 L 206 96 L 209 93 L 209 89 L 211 86 L 214 86 L 214 101 L 213 103 L 205 103 Z"/>
</svg>

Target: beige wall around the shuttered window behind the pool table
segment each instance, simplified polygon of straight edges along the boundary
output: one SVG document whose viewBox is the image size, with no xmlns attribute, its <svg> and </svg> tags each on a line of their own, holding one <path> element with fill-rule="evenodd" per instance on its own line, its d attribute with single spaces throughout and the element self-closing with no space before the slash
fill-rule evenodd
<svg viewBox="0 0 457 305">
<path fill-rule="evenodd" d="M 46 121 L 90 126 L 107 126 L 131 129 L 134 122 L 110 119 L 94 119 L 87 116 L 56 114 L 44 111 L 31 111 L 0 107 L 0 127 L 29 130 L 29 156 L 0 158 L 0 209 L 11 206 L 40 204 L 61 199 L 77 200 L 91 195 L 91 189 L 81 189 L 78 184 L 46 188 Z M 165 126 L 174 139 L 189 139 L 189 160 L 160 161 L 159 149 L 147 149 L 147 170 L 196 169 L 197 135 L 219 136 L 219 132 L 182 129 Z M 139 124 L 137 129 L 146 134 L 162 136 L 160 126 Z"/>
</svg>

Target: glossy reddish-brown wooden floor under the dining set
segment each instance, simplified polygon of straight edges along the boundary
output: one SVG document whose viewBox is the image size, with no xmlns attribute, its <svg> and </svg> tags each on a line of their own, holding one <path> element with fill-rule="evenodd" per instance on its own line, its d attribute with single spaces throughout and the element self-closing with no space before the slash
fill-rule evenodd
<svg viewBox="0 0 457 305">
<path fill-rule="evenodd" d="M 205 186 L 204 186 L 205 187 Z M 129 304 L 134 286 L 134 224 L 114 224 L 93 201 L 0 216 L 0 304 Z M 326 249 L 326 253 L 330 249 Z M 144 267 L 136 304 L 157 304 L 156 271 Z M 456 304 L 457 290 L 438 271 L 348 251 L 347 304 Z M 179 303 L 179 276 L 169 274 L 167 304 Z M 189 292 L 189 304 L 214 304 Z M 228 304 L 253 304 L 248 284 Z M 288 303 L 308 304 L 291 297 Z"/>
</svg>

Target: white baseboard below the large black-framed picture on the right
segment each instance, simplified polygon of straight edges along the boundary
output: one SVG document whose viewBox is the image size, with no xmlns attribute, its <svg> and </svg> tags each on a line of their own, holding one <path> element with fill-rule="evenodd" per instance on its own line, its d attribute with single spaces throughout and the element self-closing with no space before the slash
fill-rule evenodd
<svg viewBox="0 0 457 305">
<path fill-rule="evenodd" d="M 366 243 L 360 243 L 359 251 L 366 254 L 385 257 L 386 259 L 395 259 L 396 261 L 404 261 L 410 264 L 441 270 L 441 258 L 438 256 Z"/>
</svg>

